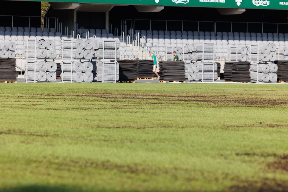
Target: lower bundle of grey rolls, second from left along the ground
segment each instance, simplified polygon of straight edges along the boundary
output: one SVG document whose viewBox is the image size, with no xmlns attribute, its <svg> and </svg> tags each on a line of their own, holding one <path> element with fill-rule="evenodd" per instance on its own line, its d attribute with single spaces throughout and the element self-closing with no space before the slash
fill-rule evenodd
<svg viewBox="0 0 288 192">
<path fill-rule="evenodd" d="M 74 61 L 72 63 L 71 68 L 71 62 L 63 62 L 60 64 L 60 70 L 63 70 L 63 73 L 61 73 L 60 77 L 63 81 L 72 81 L 74 82 L 86 82 L 90 83 L 93 81 L 93 69 L 95 68 L 95 64 L 93 66 L 92 62 L 80 62 L 80 61 Z M 71 73 L 72 70 L 72 73 Z"/>
</svg>

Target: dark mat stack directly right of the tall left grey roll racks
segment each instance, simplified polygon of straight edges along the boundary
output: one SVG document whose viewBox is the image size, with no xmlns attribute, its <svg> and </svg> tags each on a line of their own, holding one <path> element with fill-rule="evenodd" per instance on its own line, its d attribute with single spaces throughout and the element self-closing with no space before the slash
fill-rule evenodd
<svg viewBox="0 0 288 192">
<path fill-rule="evenodd" d="M 135 81 L 138 61 L 119 60 L 119 81 Z"/>
</svg>

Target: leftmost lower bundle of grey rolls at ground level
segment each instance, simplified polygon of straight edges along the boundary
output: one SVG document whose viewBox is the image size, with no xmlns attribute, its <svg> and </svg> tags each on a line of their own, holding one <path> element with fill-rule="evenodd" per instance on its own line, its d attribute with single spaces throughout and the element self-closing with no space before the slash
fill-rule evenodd
<svg viewBox="0 0 288 192">
<path fill-rule="evenodd" d="M 27 61 L 25 64 L 24 78 L 28 81 L 56 81 L 57 65 L 54 61 L 37 61 L 36 63 Z"/>
</svg>

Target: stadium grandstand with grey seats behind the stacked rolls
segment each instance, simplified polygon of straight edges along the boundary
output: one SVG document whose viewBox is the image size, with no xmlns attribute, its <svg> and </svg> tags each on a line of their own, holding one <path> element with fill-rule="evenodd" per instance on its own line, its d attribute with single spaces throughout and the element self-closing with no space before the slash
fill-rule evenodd
<svg viewBox="0 0 288 192">
<path fill-rule="evenodd" d="M 122 59 L 146 58 L 147 51 L 171 59 L 167 47 L 215 43 L 215 60 L 229 60 L 229 47 L 273 42 L 281 57 L 288 46 L 288 5 L 282 0 L 61 0 L 40 25 L 40 1 L 2 1 L 0 41 L 16 43 L 18 77 L 23 78 L 27 38 L 120 41 Z M 181 58 L 182 60 L 185 57 Z"/>
</svg>

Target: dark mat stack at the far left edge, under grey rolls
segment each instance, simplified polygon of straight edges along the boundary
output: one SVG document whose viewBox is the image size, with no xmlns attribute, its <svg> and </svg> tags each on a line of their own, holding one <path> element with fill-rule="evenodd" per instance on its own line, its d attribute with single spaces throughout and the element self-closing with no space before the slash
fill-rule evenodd
<svg viewBox="0 0 288 192">
<path fill-rule="evenodd" d="M 16 81 L 16 60 L 0 58 L 0 81 Z"/>
</svg>

